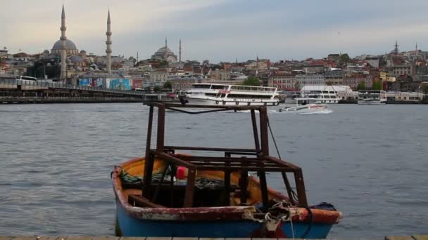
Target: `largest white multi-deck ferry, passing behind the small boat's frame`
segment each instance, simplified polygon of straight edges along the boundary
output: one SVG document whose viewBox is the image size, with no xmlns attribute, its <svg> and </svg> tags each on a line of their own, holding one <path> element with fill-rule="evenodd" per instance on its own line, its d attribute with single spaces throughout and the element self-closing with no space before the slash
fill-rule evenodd
<svg viewBox="0 0 428 240">
<path fill-rule="evenodd" d="M 277 88 L 228 84 L 192 84 L 187 91 L 189 104 L 195 105 L 265 105 L 279 104 Z"/>
</svg>

